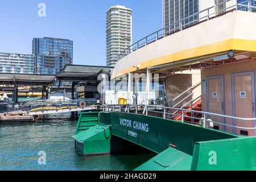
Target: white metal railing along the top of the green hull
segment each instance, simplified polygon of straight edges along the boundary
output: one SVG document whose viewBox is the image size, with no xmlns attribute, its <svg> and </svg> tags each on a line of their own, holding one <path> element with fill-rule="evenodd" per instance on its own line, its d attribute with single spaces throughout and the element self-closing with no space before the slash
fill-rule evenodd
<svg viewBox="0 0 256 182">
<path fill-rule="evenodd" d="M 172 112 L 168 112 L 170 110 L 179 110 L 181 111 L 181 114 L 174 114 Z M 197 111 L 197 110 L 188 110 L 188 109 L 181 109 L 181 108 L 175 108 L 175 107 L 166 107 L 162 105 L 104 105 L 103 111 L 118 111 L 118 112 L 126 112 L 126 113 L 135 113 L 135 114 L 143 114 L 143 115 L 150 115 L 148 113 L 159 113 L 162 114 L 161 118 L 166 119 L 166 115 L 172 115 L 172 117 L 180 116 L 181 122 L 185 122 L 185 118 L 190 118 L 191 123 L 193 125 L 196 125 L 199 123 L 199 125 L 203 127 L 213 127 L 214 123 L 217 125 L 222 126 L 228 126 L 232 127 L 233 129 L 243 129 L 243 130 L 256 130 L 256 127 L 240 127 L 240 126 L 233 126 L 228 125 L 226 123 L 222 123 L 219 121 L 212 121 L 209 119 L 210 117 L 220 117 L 225 119 L 236 119 L 240 120 L 242 122 L 251 122 L 256 121 L 256 118 L 240 118 L 240 117 L 233 117 L 229 115 L 222 115 L 222 114 L 216 114 L 216 113 L 208 113 L 205 111 Z M 139 113 L 141 111 L 141 113 Z M 191 113 L 192 116 L 185 115 L 185 113 Z M 201 115 L 201 117 L 196 117 L 196 115 Z M 194 122 L 194 121 L 197 122 Z"/>
</svg>

